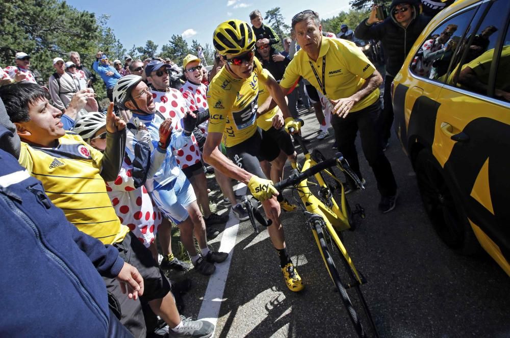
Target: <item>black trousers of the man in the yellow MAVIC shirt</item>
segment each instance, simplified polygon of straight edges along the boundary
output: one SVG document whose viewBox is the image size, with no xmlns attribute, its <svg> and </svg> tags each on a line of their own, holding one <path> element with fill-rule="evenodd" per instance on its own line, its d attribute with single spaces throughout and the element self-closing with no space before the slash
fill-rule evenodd
<svg viewBox="0 0 510 338">
<path fill-rule="evenodd" d="M 368 164 L 372 167 L 377 181 L 377 189 L 382 196 L 392 196 L 396 193 L 397 184 L 391 164 L 382 152 L 379 133 L 377 132 L 377 119 L 380 114 L 380 101 L 377 100 L 366 108 L 350 112 L 345 119 L 334 115 L 331 119 L 331 125 L 335 129 L 338 150 L 347 159 L 354 173 L 362 179 L 358 152 L 354 144 L 356 134 L 358 130 L 360 131 L 363 153 Z M 350 178 L 348 179 L 350 180 Z"/>
</svg>

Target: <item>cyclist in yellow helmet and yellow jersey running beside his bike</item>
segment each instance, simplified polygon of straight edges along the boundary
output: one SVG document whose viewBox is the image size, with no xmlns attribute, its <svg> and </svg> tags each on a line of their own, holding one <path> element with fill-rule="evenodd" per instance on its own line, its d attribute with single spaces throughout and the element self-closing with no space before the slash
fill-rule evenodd
<svg viewBox="0 0 510 338">
<path fill-rule="evenodd" d="M 262 202 L 266 215 L 272 221 L 268 232 L 278 252 L 287 287 L 300 291 L 304 286 L 287 252 L 279 220 L 280 206 L 272 196 L 278 192 L 273 182 L 265 178 L 259 162 L 264 159 L 264 149 L 256 119 L 257 115 L 265 112 L 257 104 L 259 81 L 265 83 L 282 110 L 286 130 L 293 127 L 297 132 L 299 124 L 290 117 L 278 83 L 263 73 L 260 62 L 254 57 L 255 42 L 251 27 L 241 20 L 225 21 L 214 31 L 214 47 L 226 63 L 209 84 L 210 121 L 202 156 L 226 176 L 246 183 L 252 195 Z M 274 124 L 281 128 L 284 122 L 276 119 Z M 218 150 L 222 139 L 232 161 Z"/>
</svg>

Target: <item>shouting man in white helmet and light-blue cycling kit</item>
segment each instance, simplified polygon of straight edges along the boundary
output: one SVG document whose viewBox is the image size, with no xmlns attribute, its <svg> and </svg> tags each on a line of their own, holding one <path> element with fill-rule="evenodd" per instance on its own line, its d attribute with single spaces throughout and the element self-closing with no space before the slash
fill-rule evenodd
<svg viewBox="0 0 510 338">
<path fill-rule="evenodd" d="M 150 62 L 145 67 L 147 78 L 157 75 L 160 68 L 165 67 L 162 62 Z M 155 68 L 156 66 L 156 68 Z M 164 70 L 164 69 L 163 69 Z M 161 74 L 160 77 L 168 78 Z M 177 98 L 182 95 L 175 91 Z M 210 275 L 216 267 L 214 263 L 226 260 L 228 253 L 211 251 L 207 245 L 206 226 L 202 218 L 195 193 L 190 182 L 176 162 L 172 149 L 181 149 L 191 140 L 191 132 L 196 125 L 197 117 L 193 112 L 187 112 L 182 127 L 173 127 L 172 118 L 165 119 L 161 112 L 156 110 L 152 93 L 148 90 L 141 76 L 126 75 L 117 82 L 113 92 L 114 101 L 121 109 L 129 109 L 133 113 L 129 124 L 139 125 L 142 123 L 150 135 L 150 169 L 148 172 L 152 179 L 147 179 L 145 186 L 148 188 L 152 200 L 156 203 L 162 215 L 172 220 L 181 231 L 181 241 L 188 251 L 194 269 L 201 274 Z M 184 99 L 182 99 L 184 100 Z M 183 107 L 184 108 L 184 107 Z M 126 134 L 126 154 L 133 161 L 135 149 L 139 141 L 133 133 Z M 160 244 L 164 255 L 167 255 L 170 247 L 170 227 L 164 227 L 162 223 L 159 233 Z M 196 237 L 200 251 L 195 249 L 193 235 Z M 170 261 L 170 257 L 164 257 L 164 262 Z M 169 262 L 171 263 L 171 262 Z"/>
</svg>

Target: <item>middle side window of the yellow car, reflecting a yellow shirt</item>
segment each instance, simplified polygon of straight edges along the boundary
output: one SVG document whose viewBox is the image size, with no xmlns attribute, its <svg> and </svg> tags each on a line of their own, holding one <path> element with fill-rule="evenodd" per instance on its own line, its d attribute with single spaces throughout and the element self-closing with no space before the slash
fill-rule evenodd
<svg viewBox="0 0 510 338">
<path fill-rule="evenodd" d="M 494 48 L 498 36 L 506 27 L 506 13 L 508 13 L 509 5 L 507 0 L 488 3 L 475 31 L 470 32 L 465 43 L 458 49 L 452 71 L 446 79 L 448 85 L 489 95 L 489 77 L 494 59 Z"/>
</svg>

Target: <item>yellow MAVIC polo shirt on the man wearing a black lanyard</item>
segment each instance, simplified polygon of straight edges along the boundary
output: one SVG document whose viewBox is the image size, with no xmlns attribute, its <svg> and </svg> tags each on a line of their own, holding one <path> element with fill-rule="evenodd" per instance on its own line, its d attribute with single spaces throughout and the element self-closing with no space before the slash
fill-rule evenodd
<svg viewBox="0 0 510 338">
<path fill-rule="evenodd" d="M 300 49 L 287 66 L 280 86 L 291 88 L 302 76 L 328 99 L 337 100 L 358 92 L 374 71 L 374 65 L 354 42 L 323 36 L 317 61 Z M 376 89 L 350 111 L 368 107 L 378 98 L 379 89 Z"/>
</svg>

